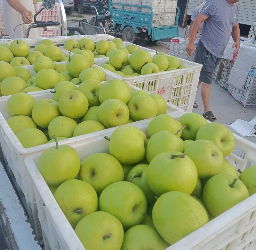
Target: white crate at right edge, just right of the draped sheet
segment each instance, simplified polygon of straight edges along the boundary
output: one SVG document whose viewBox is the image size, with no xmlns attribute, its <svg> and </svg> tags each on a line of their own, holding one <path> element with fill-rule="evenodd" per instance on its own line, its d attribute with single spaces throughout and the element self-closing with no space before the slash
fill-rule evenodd
<svg viewBox="0 0 256 250">
<path fill-rule="evenodd" d="M 256 107 L 256 70 L 250 70 L 242 90 L 239 90 L 236 99 L 244 107 Z"/>
</svg>

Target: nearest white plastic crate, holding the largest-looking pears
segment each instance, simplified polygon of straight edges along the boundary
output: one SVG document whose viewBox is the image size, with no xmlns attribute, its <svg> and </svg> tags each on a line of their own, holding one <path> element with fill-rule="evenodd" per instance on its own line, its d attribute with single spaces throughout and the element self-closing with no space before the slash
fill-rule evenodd
<svg viewBox="0 0 256 250">
<path fill-rule="evenodd" d="M 182 114 L 173 116 L 178 119 Z M 147 135 L 148 122 L 136 126 Z M 112 132 L 104 134 L 111 137 Z M 70 143 L 78 152 L 80 160 L 99 152 L 108 153 L 109 142 L 104 136 L 84 140 L 82 143 Z M 236 169 L 244 170 L 247 162 L 256 164 L 256 145 L 242 137 L 235 136 L 236 150 L 246 152 L 244 159 L 233 153 L 228 160 Z M 60 141 L 60 144 L 61 141 Z M 45 250 L 84 249 L 74 230 L 68 223 L 41 173 L 38 171 L 38 158 L 42 152 L 25 158 L 26 175 L 30 185 L 29 195 L 36 201 L 38 217 L 44 231 Z M 184 237 L 166 250 L 255 250 L 256 249 L 256 194 L 240 202 L 233 208 L 214 218 L 201 228 Z M 244 248 L 246 247 L 246 248 Z"/>
</svg>

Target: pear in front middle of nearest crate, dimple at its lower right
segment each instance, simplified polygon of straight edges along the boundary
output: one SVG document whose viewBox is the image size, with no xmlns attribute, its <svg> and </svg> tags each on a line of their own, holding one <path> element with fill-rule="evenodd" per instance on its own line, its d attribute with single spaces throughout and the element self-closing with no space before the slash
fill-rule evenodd
<svg viewBox="0 0 256 250">
<path fill-rule="evenodd" d="M 124 229 L 140 224 L 147 211 L 142 190 L 128 181 L 118 181 L 106 187 L 99 198 L 99 209 L 115 216 Z"/>
</svg>

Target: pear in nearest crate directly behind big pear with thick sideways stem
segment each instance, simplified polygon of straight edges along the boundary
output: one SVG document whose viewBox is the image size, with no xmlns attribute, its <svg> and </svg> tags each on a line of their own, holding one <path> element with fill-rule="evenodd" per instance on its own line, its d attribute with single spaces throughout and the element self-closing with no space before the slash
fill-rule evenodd
<svg viewBox="0 0 256 250">
<path fill-rule="evenodd" d="M 150 163 L 156 155 L 167 151 L 183 152 L 183 141 L 178 136 L 173 135 L 170 131 L 162 130 L 156 132 L 147 142 L 146 159 Z"/>
</svg>

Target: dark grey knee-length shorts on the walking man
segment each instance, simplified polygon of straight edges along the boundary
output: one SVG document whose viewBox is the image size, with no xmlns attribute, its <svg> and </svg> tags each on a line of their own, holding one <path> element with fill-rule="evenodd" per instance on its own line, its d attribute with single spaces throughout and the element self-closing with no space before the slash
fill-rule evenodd
<svg viewBox="0 0 256 250">
<path fill-rule="evenodd" d="M 195 63 L 203 64 L 203 68 L 200 72 L 199 81 L 207 84 L 212 83 L 213 71 L 220 63 L 221 58 L 217 58 L 209 52 L 201 40 L 198 41 L 195 53 Z"/>
</svg>

